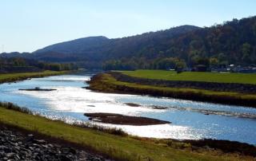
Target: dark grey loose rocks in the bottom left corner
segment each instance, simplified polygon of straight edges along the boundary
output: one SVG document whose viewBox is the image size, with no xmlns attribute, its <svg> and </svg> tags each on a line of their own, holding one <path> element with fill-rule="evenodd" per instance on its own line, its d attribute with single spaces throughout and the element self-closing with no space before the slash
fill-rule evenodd
<svg viewBox="0 0 256 161">
<path fill-rule="evenodd" d="M 0 160 L 106 160 L 100 155 L 0 127 Z"/>
</svg>

